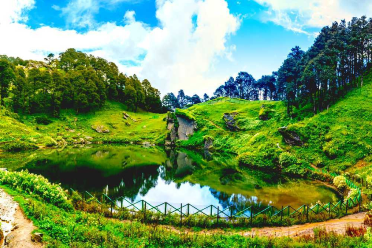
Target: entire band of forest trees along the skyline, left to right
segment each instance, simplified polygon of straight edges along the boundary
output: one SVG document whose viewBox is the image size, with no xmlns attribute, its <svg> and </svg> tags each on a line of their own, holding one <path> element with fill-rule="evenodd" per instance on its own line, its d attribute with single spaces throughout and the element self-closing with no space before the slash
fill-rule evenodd
<svg viewBox="0 0 372 248">
<path fill-rule="evenodd" d="M 206 93 L 188 96 L 183 90 L 160 92 L 149 80 L 119 72 L 105 59 L 73 48 L 45 62 L 24 61 L 0 56 L 1 105 L 15 112 L 49 113 L 57 117 L 61 109 L 77 113 L 99 109 L 106 100 L 124 103 L 129 110 L 163 113 L 185 108 L 220 96 L 246 100 L 284 101 L 287 114 L 293 108 L 311 106 L 315 115 L 342 97 L 348 90 L 363 85 L 363 72 L 372 61 L 372 18 L 354 17 L 346 23 L 324 27 L 313 45 L 304 51 L 291 49 L 278 71 L 256 80 L 239 72 L 219 86 L 212 97 Z M 10 97 L 8 97 L 10 96 Z"/>
</svg>

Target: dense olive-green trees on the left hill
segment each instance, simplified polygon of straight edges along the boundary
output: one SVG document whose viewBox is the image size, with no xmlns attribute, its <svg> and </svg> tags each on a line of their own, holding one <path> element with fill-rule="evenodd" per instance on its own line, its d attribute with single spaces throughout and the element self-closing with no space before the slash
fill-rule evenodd
<svg viewBox="0 0 372 248">
<path fill-rule="evenodd" d="M 50 54 L 45 62 L 0 56 L 1 105 L 21 113 L 60 115 L 61 109 L 87 112 L 106 100 L 124 103 L 129 110 L 161 112 L 160 92 L 145 79 L 127 77 L 113 62 L 75 49 Z"/>
</svg>

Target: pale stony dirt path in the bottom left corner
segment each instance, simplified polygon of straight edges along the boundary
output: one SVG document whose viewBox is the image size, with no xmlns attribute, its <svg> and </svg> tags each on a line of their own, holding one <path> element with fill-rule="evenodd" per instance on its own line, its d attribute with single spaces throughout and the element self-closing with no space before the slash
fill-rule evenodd
<svg viewBox="0 0 372 248">
<path fill-rule="evenodd" d="M 31 232 L 35 229 L 27 219 L 17 202 L 0 188 L 0 223 L 4 233 L 5 248 L 41 248 L 40 243 L 31 241 Z M 0 247 L 4 240 L 0 241 Z"/>
</svg>

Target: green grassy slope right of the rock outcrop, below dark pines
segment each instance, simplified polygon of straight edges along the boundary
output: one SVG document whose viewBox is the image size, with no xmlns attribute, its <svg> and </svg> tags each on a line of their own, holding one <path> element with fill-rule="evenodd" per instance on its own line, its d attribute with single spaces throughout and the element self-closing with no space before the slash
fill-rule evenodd
<svg viewBox="0 0 372 248">
<path fill-rule="evenodd" d="M 281 102 L 231 102 L 228 98 L 218 98 L 194 105 L 187 110 L 196 117 L 199 130 L 190 140 L 181 141 L 180 144 L 186 147 L 202 147 L 204 137 L 210 136 L 214 138 L 215 149 L 237 155 L 253 153 L 264 145 L 279 145 L 281 149 L 317 166 L 345 170 L 360 159 L 365 158 L 367 162 L 372 160 L 371 81 L 372 73 L 364 77 L 361 90 L 352 90 L 328 110 L 307 118 L 305 116 L 309 115 L 309 111 L 306 109 L 297 109 L 294 119 L 287 118 L 285 106 Z M 262 104 L 274 110 L 268 121 L 258 118 Z M 236 119 L 243 130 L 230 131 L 226 127 L 223 114 L 232 112 L 239 113 Z M 284 125 L 297 132 L 305 141 L 305 145 L 286 145 L 278 132 L 278 128 Z"/>
</svg>

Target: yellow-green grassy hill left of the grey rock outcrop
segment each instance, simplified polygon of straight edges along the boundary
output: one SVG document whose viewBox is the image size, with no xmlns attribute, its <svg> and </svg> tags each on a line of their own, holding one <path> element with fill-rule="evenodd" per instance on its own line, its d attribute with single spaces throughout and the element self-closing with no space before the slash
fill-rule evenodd
<svg viewBox="0 0 372 248">
<path fill-rule="evenodd" d="M 123 112 L 130 118 L 124 119 Z M 1 111 L 4 116 L 5 112 Z M 16 116 L 16 115 L 14 115 Z M 52 146 L 54 143 L 33 142 L 35 137 L 50 137 L 47 140 L 55 140 L 63 144 L 85 142 L 113 142 L 113 143 L 142 143 L 148 141 L 156 144 L 164 143 L 166 124 L 163 120 L 166 114 L 155 114 L 144 111 L 133 113 L 125 110 L 125 106 L 118 102 L 107 102 L 102 109 L 85 114 L 76 114 L 74 110 L 62 110 L 59 118 L 46 117 L 44 114 L 20 115 L 19 121 L 11 116 L 1 118 L 0 125 L 6 132 L 2 134 L 0 141 L 7 141 L 6 136 L 19 139 L 23 137 L 25 142 L 37 146 Z M 40 121 L 41 120 L 41 121 Z M 45 120 L 47 120 L 45 122 Z M 98 133 L 93 130 L 97 126 L 108 133 Z M 5 128 L 6 127 L 6 128 Z M 93 128 L 92 128 L 93 127 Z M 23 144 L 25 145 L 25 144 Z M 0 149 L 7 149 L 1 146 Z"/>
</svg>

